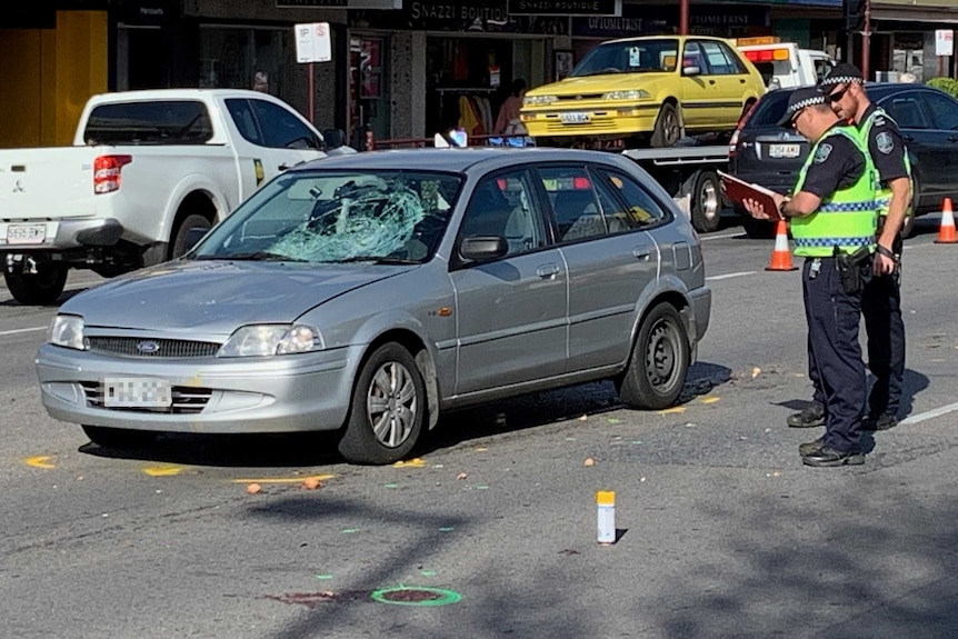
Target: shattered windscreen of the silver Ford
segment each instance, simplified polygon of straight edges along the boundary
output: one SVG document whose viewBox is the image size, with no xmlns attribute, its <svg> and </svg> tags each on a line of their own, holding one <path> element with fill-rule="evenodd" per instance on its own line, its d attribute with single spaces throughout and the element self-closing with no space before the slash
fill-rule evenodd
<svg viewBox="0 0 958 639">
<path fill-rule="evenodd" d="M 461 182 L 450 173 L 297 171 L 260 189 L 190 257 L 422 263 L 439 246 Z"/>
</svg>

